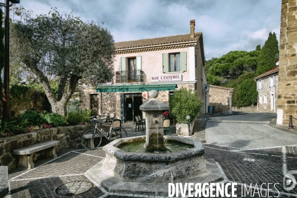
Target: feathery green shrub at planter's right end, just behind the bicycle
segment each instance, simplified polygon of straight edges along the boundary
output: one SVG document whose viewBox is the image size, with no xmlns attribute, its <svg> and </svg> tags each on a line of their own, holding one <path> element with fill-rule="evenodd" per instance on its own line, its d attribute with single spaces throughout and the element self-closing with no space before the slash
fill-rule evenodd
<svg viewBox="0 0 297 198">
<path fill-rule="evenodd" d="M 76 109 L 68 112 L 66 121 L 69 125 L 77 125 L 80 122 L 88 122 L 90 120 L 92 110 Z"/>
</svg>

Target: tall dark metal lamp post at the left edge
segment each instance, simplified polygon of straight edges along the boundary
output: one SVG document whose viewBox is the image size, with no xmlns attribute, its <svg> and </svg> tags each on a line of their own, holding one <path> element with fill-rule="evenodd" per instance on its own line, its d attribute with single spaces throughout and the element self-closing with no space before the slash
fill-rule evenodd
<svg viewBox="0 0 297 198">
<path fill-rule="evenodd" d="M 9 3 L 9 1 L 11 3 Z M 9 108 L 9 7 L 13 3 L 20 3 L 20 0 L 5 0 L 5 64 L 3 72 L 3 109 L 2 109 L 2 118 L 9 120 L 10 118 L 10 108 Z"/>
</svg>

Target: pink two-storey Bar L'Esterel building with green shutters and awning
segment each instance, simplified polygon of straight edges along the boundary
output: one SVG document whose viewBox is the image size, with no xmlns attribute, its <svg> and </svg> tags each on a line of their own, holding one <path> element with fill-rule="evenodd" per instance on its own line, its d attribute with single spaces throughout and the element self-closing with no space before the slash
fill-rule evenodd
<svg viewBox="0 0 297 198">
<path fill-rule="evenodd" d="M 96 90 L 85 88 L 80 97 L 82 108 L 94 114 L 115 113 L 122 122 L 134 122 L 142 115 L 140 105 L 149 100 L 148 91 L 159 91 L 158 99 L 168 103 L 168 94 L 181 87 L 203 93 L 207 84 L 202 33 L 195 33 L 195 20 L 190 21 L 190 34 L 117 42 L 115 45 L 114 78 Z M 205 107 L 201 109 L 205 113 Z"/>
</svg>

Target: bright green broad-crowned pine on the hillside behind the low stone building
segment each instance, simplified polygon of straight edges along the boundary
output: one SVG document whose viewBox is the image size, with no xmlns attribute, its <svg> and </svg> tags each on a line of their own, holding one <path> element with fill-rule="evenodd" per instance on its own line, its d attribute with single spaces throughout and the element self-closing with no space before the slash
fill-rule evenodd
<svg viewBox="0 0 297 198">
<path fill-rule="evenodd" d="M 222 85 L 256 70 L 259 51 L 230 51 L 214 61 L 207 74 L 211 85 Z"/>
</svg>

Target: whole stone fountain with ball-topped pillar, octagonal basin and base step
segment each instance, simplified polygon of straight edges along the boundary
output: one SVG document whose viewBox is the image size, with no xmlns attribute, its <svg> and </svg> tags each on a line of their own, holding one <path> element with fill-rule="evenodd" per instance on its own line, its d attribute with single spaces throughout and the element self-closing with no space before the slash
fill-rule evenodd
<svg viewBox="0 0 297 198">
<path fill-rule="evenodd" d="M 146 113 L 146 136 L 109 143 L 103 147 L 104 160 L 88 170 L 88 175 L 108 192 L 168 196 L 168 183 L 223 180 L 215 161 L 203 159 L 205 150 L 201 141 L 163 136 L 163 112 L 169 110 L 169 106 L 156 99 L 157 96 L 157 91 L 150 91 L 151 99 L 140 106 Z M 118 148 L 144 140 L 144 148 L 150 152 L 127 152 Z M 166 141 L 191 145 L 192 148 L 171 152 L 164 146 Z M 153 150 L 158 152 L 151 152 Z"/>
</svg>

